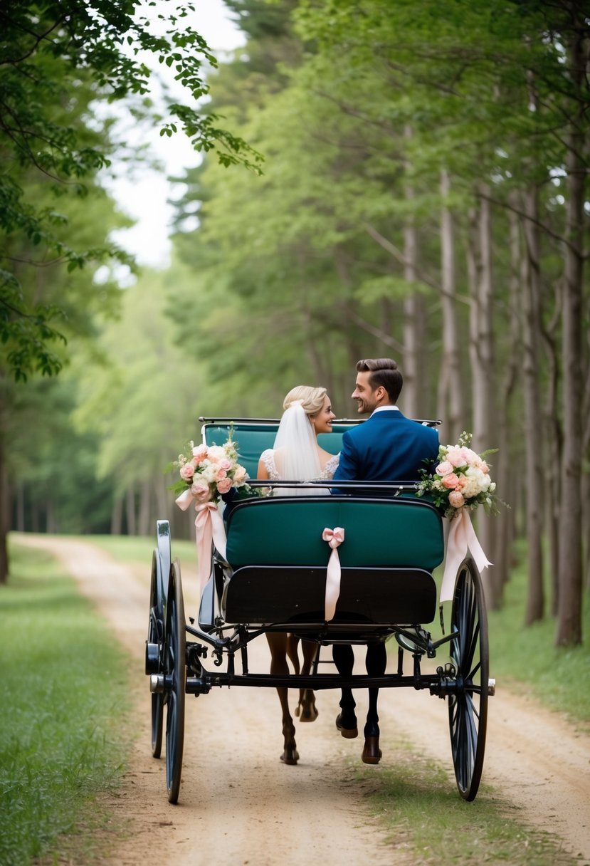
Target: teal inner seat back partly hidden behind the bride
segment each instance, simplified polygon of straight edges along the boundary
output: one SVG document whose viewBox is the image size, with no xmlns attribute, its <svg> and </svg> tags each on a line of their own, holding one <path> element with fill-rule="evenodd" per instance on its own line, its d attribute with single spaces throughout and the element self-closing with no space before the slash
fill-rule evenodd
<svg viewBox="0 0 590 866">
<path fill-rule="evenodd" d="M 335 424 L 331 433 L 322 433 L 317 442 L 330 454 L 337 454 L 342 447 L 342 437 L 350 425 Z M 204 441 L 208 445 L 222 445 L 228 441 L 231 430 L 232 438 L 237 443 L 239 461 L 246 469 L 250 478 L 256 477 L 260 455 L 267 448 L 273 448 L 274 437 L 277 435 L 279 423 L 275 422 L 238 422 L 206 423 L 203 425 Z"/>
</svg>

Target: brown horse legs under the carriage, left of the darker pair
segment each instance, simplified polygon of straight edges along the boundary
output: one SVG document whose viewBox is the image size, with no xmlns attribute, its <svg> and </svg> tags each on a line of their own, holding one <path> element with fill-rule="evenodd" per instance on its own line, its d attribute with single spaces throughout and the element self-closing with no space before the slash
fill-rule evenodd
<svg viewBox="0 0 590 866">
<path fill-rule="evenodd" d="M 286 676 L 289 674 L 289 665 L 287 657 L 291 660 L 295 674 L 307 676 L 311 672 L 311 664 L 317 654 L 317 643 L 313 641 L 301 641 L 301 649 L 303 650 L 303 664 L 299 665 L 298 643 L 299 638 L 290 633 L 279 631 L 266 632 L 266 640 L 271 650 L 271 675 Z M 299 753 L 295 742 L 295 725 L 293 724 L 292 715 L 289 712 L 289 689 L 286 686 L 278 686 L 277 694 L 279 695 L 280 706 L 283 714 L 283 753 L 280 759 L 284 764 L 297 764 Z M 316 698 L 311 688 L 299 689 L 299 701 L 295 709 L 295 715 L 299 721 L 316 721 L 318 711 L 316 707 Z"/>
</svg>

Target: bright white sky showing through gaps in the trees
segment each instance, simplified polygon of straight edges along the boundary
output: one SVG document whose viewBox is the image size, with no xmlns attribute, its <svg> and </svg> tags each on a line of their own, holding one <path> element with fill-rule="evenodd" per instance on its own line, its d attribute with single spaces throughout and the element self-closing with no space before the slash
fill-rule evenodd
<svg viewBox="0 0 590 866">
<path fill-rule="evenodd" d="M 173 3 L 174 0 L 167 0 Z M 192 26 L 207 40 L 217 60 L 222 60 L 223 51 L 239 48 L 245 37 L 232 21 L 222 0 L 196 0 L 196 12 Z M 158 65 L 158 71 L 162 67 Z M 170 78 L 170 84 L 176 86 Z M 129 120 L 121 120 L 125 128 L 125 139 L 132 144 L 137 129 Z M 138 144 L 144 143 L 145 131 Z M 183 132 L 171 138 L 161 137 L 157 126 L 148 133 L 150 152 L 161 163 L 158 170 L 148 166 L 136 166 L 130 171 L 128 165 L 117 165 L 113 160 L 116 178 L 104 178 L 103 184 L 116 200 L 119 210 L 136 219 L 131 229 L 112 232 L 112 240 L 135 255 L 139 264 L 153 268 L 165 268 L 170 262 L 170 224 L 173 210 L 168 199 L 182 194 L 182 187 L 170 184 L 168 175 L 181 175 L 184 168 L 198 165 L 201 156 L 190 146 Z M 125 281 L 125 275 L 121 275 Z"/>
</svg>

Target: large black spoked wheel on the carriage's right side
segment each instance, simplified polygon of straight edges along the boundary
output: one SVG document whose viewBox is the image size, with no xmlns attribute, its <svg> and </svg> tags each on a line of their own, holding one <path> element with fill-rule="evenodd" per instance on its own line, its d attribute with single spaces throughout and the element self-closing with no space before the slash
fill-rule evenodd
<svg viewBox="0 0 590 866">
<path fill-rule="evenodd" d="M 457 691 L 449 695 L 452 762 L 461 797 L 475 799 L 484 768 L 488 715 L 489 650 L 484 591 L 478 568 L 468 556 L 459 566 L 452 600 L 451 659 Z"/>
</svg>

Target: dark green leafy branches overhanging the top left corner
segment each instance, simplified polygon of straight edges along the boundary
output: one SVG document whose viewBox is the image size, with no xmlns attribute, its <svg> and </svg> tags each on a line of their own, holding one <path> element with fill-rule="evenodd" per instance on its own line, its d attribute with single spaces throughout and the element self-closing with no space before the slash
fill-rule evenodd
<svg viewBox="0 0 590 866">
<path fill-rule="evenodd" d="M 220 126 L 215 113 L 202 111 L 199 100 L 208 93 L 203 70 L 216 61 L 187 23 L 193 8 L 186 3 L 158 12 L 157 3 L 139 0 L 8 0 L 0 9 L 0 340 L 16 379 L 34 369 L 59 372 L 61 360 L 48 345 L 65 340 L 55 324 L 59 305 L 30 301 L 19 262 L 40 268 L 50 258 L 67 272 L 109 258 L 129 262 L 109 243 L 69 245 L 55 231 L 61 215 L 38 207 L 29 184 L 42 179 L 56 196 L 87 194 L 111 150 L 107 124 L 93 105 L 135 100 L 135 112 L 148 113 L 147 103 L 138 102 L 151 88 L 146 56 L 171 68 L 187 94 L 185 103 L 169 100 L 161 134 L 182 129 L 197 151 L 217 148 L 222 165 L 257 169 L 260 155 Z M 22 258 L 12 249 L 14 238 L 24 247 Z"/>
</svg>

